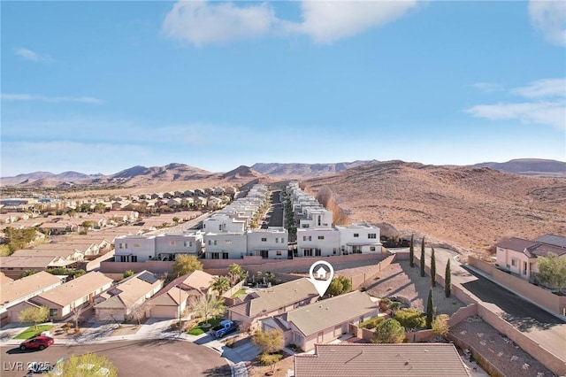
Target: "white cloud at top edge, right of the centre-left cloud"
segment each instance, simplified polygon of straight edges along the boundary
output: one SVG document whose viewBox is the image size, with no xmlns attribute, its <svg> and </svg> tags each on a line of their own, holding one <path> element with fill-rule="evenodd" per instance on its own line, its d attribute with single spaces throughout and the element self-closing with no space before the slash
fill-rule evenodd
<svg viewBox="0 0 566 377">
<path fill-rule="evenodd" d="M 402 17 L 417 1 L 303 1 L 303 21 L 288 30 L 331 43 Z"/>
</svg>

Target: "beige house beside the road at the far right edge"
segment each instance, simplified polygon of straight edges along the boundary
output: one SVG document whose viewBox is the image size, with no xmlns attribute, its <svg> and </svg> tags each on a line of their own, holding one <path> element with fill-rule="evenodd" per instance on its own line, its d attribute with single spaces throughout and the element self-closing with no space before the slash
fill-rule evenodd
<svg viewBox="0 0 566 377">
<path fill-rule="evenodd" d="M 539 272 L 537 258 L 549 253 L 566 258 L 566 237 L 543 235 L 535 241 L 511 237 L 495 244 L 495 252 L 498 267 L 532 281 Z"/>
</svg>

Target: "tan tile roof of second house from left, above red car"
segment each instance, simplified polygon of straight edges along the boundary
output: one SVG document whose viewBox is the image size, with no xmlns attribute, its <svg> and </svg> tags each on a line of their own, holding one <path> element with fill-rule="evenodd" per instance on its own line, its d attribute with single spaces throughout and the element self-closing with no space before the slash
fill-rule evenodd
<svg viewBox="0 0 566 377">
<path fill-rule="evenodd" d="M 109 286 L 111 283 L 111 278 L 103 273 L 86 273 L 72 281 L 58 286 L 55 289 L 43 292 L 39 297 L 42 297 L 51 303 L 66 306 L 81 297 L 88 296 L 88 294 L 96 291 L 96 289 Z"/>
</svg>

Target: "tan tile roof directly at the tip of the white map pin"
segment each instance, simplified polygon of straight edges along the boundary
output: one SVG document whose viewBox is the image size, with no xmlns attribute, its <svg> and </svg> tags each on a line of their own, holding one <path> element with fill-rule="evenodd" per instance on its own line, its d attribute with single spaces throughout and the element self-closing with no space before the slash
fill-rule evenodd
<svg viewBox="0 0 566 377">
<path fill-rule="evenodd" d="M 281 307 L 318 296 L 317 289 L 307 278 L 279 284 L 271 289 L 257 290 L 254 293 L 257 295 L 256 298 L 233 306 L 230 310 L 254 318 L 263 312 L 273 312 Z"/>
</svg>

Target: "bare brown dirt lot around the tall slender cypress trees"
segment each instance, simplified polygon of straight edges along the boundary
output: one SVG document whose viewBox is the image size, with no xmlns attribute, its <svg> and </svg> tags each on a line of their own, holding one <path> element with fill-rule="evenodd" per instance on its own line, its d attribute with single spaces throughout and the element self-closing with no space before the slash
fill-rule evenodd
<svg viewBox="0 0 566 377">
<path fill-rule="evenodd" d="M 420 311 L 426 310 L 426 299 L 431 287 L 431 277 L 421 277 L 417 265 L 411 268 L 409 261 L 399 261 L 388 265 L 381 270 L 378 276 L 365 285 L 371 296 L 376 297 L 399 297 Z M 454 314 L 459 308 L 465 306 L 454 296 L 446 298 L 444 288 L 439 284 L 432 289 L 432 301 L 436 307 L 437 314 Z"/>
</svg>

